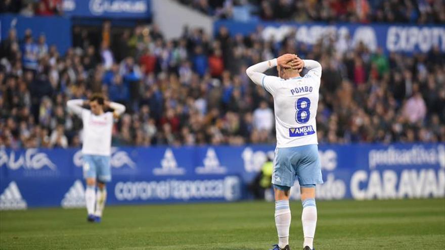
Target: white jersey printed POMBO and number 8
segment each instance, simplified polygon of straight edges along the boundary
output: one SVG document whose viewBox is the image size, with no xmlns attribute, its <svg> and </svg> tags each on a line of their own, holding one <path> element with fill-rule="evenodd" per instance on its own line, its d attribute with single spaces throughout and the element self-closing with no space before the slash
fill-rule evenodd
<svg viewBox="0 0 445 250">
<path fill-rule="evenodd" d="M 262 85 L 274 97 L 277 147 L 318 144 L 317 107 L 322 69 L 287 80 L 264 76 Z"/>
</svg>

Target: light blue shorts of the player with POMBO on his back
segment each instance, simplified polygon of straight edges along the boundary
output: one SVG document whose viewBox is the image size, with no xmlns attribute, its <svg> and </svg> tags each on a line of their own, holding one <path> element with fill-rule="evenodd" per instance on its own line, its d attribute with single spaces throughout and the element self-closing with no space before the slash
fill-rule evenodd
<svg viewBox="0 0 445 250">
<path fill-rule="evenodd" d="M 317 144 L 275 149 L 272 183 L 290 188 L 296 178 L 300 186 L 323 183 Z"/>
</svg>

